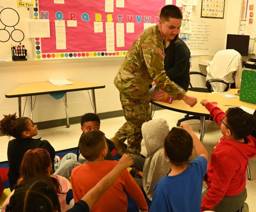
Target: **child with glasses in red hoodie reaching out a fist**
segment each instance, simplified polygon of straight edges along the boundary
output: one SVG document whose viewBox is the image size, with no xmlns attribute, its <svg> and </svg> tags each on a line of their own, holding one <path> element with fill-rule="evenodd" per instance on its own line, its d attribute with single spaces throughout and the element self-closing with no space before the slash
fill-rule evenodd
<svg viewBox="0 0 256 212">
<path fill-rule="evenodd" d="M 223 135 L 212 151 L 204 176 L 208 190 L 202 193 L 201 211 L 246 212 L 246 170 L 248 159 L 256 156 L 256 139 L 250 135 L 256 119 L 239 107 L 231 107 L 225 114 L 206 99 L 201 104 L 220 125 Z"/>
</svg>

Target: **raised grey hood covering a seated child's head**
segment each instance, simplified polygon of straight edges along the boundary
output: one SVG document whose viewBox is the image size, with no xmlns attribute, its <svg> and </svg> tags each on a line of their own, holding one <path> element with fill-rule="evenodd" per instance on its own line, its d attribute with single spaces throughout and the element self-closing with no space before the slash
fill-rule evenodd
<svg viewBox="0 0 256 212">
<path fill-rule="evenodd" d="M 170 129 L 165 119 L 152 119 L 143 123 L 141 131 L 147 151 L 147 157 L 149 157 L 160 147 L 164 146 L 164 139 Z"/>
</svg>

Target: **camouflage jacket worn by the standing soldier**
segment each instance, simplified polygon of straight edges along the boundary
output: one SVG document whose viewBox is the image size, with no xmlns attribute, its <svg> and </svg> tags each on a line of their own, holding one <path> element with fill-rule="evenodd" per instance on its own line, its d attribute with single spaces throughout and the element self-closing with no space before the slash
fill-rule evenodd
<svg viewBox="0 0 256 212">
<path fill-rule="evenodd" d="M 164 71 L 163 42 L 158 25 L 147 28 L 138 36 L 114 79 L 120 92 L 131 98 L 145 99 L 149 95 L 149 85 L 154 80 L 174 98 L 181 99 L 184 96 Z"/>
</svg>

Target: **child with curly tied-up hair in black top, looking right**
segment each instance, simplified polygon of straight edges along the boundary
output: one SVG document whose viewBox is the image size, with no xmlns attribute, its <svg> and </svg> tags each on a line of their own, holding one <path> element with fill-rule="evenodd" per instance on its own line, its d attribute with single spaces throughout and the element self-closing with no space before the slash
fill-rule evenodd
<svg viewBox="0 0 256 212">
<path fill-rule="evenodd" d="M 55 150 L 52 145 L 46 140 L 32 138 L 38 134 L 38 129 L 28 117 L 17 118 L 16 113 L 4 115 L 4 118 L 0 121 L 0 130 L 3 135 L 15 138 L 9 141 L 7 149 L 8 179 L 11 191 L 20 176 L 20 163 L 28 149 L 46 149 L 50 154 L 51 161 L 54 162 Z"/>
</svg>

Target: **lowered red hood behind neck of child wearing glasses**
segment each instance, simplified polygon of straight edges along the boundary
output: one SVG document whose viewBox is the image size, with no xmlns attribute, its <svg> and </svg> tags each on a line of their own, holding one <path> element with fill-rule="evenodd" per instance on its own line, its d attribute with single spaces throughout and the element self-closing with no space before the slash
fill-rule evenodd
<svg viewBox="0 0 256 212">
<path fill-rule="evenodd" d="M 230 140 L 226 139 L 225 137 L 223 137 L 223 141 L 225 143 L 227 143 L 231 147 L 236 148 L 236 150 L 238 152 L 240 152 L 240 154 L 244 158 L 250 159 L 250 158 L 253 158 L 256 156 L 256 139 L 254 137 L 252 137 L 251 135 L 247 136 L 246 139 L 248 140 L 248 143 L 244 144 L 244 143 L 239 143 L 239 142 L 235 142 L 235 141 L 230 141 Z"/>
</svg>

